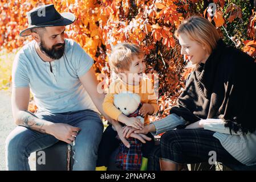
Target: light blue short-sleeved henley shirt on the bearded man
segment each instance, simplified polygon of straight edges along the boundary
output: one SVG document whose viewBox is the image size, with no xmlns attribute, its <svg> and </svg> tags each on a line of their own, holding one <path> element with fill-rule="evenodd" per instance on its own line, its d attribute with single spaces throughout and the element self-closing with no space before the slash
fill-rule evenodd
<svg viewBox="0 0 256 182">
<path fill-rule="evenodd" d="M 92 67 L 94 61 L 72 39 L 65 39 L 64 55 L 45 62 L 35 51 L 33 40 L 22 47 L 13 64 L 13 86 L 30 87 L 35 104 L 40 111 L 64 113 L 92 109 L 97 111 L 79 77 Z"/>
</svg>

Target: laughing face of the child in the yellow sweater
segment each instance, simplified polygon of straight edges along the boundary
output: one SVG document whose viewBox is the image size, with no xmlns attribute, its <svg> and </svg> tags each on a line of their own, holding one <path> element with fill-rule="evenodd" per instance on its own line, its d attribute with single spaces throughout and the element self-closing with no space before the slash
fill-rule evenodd
<svg viewBox="0 0 256 182">
<path fill-rule="evenodd" d="M 129 68 L 129 71 L 124 71 L 124 73 L 127 77 L 132 76 L 133 79 L 136 80 L 136 78 L 143 77 L 143 73 L 145 72 L 145 69 L 146 69 L 146 64 L 144 61 L 144 57 L 135 56 Z"/>
</svg>

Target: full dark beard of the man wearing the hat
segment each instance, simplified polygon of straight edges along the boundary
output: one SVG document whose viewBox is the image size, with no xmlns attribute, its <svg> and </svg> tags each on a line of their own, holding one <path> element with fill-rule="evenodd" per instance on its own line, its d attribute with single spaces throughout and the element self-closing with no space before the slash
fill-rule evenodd
<svg viewBox="0 0 256 182">
<path fill-rule="evenodd" d="M 62 47 L 58 47 L 58 46 L 62 46 Z M 44 41 L 41 41 L 39 47 L 40 47 L 40 50 L 44 52 L 48 57 L 55 60 L 55 59 L 60 59 L 60 57 L 63 56 L 64 50 L 65 50 L 65 42 L 63 44 L 61 43 L 55 44 L 50 49 L 47 49 L 44 44 Z"/>
</svg>

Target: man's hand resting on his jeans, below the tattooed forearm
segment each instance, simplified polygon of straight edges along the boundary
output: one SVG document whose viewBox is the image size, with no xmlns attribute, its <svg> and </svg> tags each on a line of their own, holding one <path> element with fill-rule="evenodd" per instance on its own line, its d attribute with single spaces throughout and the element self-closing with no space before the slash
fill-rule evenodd
<svg viewBox="0 0 256 182">
<path fill-rule="evenodd" d="M 56 139 L 71 144 L 74 142 L 81 129 L 64 123 L 51 123 L 46 127 L 46 133 L 53 135 Z"/>
</svg>

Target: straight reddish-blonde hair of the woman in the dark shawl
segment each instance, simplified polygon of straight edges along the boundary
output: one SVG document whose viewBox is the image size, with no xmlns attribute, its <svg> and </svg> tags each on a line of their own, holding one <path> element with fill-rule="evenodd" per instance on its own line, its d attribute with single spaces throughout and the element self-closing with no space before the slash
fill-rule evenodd
<svg viewBox="0 0 256 182">
<path fill-rule="evenodd" d="M 175 32 L 176 38 L 180 34 L 186 34 L 189 39 L 204 45 L 209 54 L 212 53 L 220 39 L 216 27 L 201 16 L 191 16 L 185 19 Z"/>
</svg>

